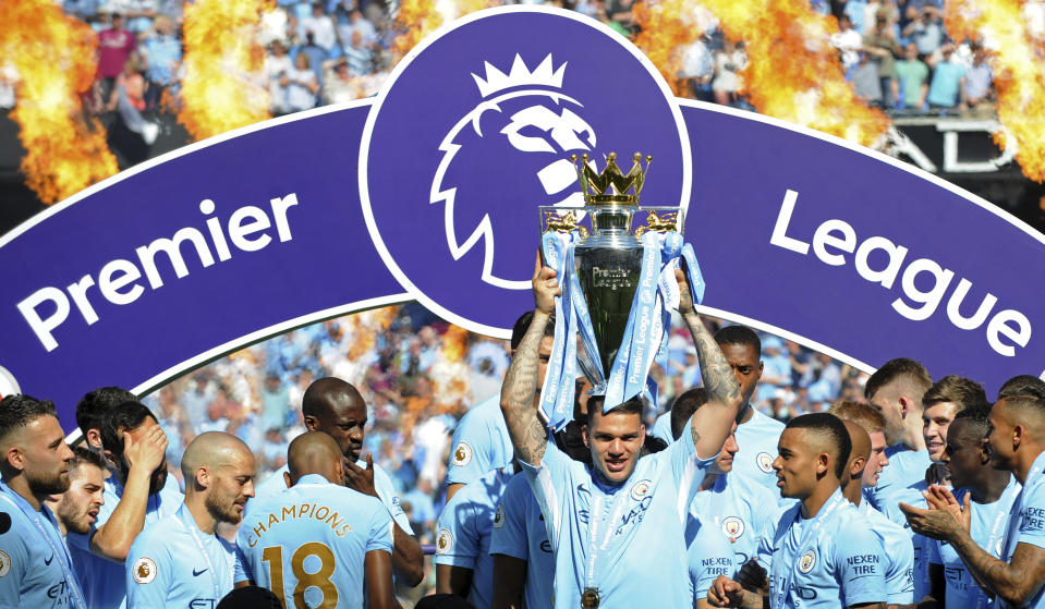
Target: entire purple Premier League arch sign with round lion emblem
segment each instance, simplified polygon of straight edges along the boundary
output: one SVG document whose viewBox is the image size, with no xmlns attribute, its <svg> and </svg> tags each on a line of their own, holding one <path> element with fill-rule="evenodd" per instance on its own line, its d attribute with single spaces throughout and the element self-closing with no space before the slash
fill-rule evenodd
<svg viewBox="0 0 1045 609">
<path fill-rule="evenodd" d="M 1045 368 L 1045 239 L 884 155 L 671 97 L 576 13 L 494 9 L 414 49 L 373 99 L 153 159 L 0 237 L 0 393 L 147 391 L 291 328 L 417 300 L 507 337 L 536 208 L 572 154 L 652 155 L 688 206 L 704 309 L 872 370 L 918 358 L 994 391 Z"/>
</svg>

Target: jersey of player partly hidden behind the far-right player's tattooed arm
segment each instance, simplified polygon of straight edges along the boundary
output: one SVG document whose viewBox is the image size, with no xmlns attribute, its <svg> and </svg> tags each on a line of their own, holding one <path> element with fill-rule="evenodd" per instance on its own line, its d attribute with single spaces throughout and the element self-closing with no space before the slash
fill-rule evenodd
<svg viewBox="0 0 1045 609">
<path fill-rule="evenodd" d="M 1005 550 L 1005 534 L 1009 528 L 1009 512 L 1020 492 L 1020 483 L 1009 477 L 1009 484 L 1001 496 L 992 503 L 969 502 L 972 511 L 969 536 L 994 558 L 1001 558 Z M 955 498 L 961 504 L 965 500 L 968 489 L 955 491 Z M 944 568 L 944 581 L 947 590 L 944 594 L 947 609 L 986 609 L 995 606 L 995 599 L 988 596 L 972 577 L 961 557 L 955 548 L 946 541 L 932 540 L 929 543 L 929 558 L 932 564 Z"/>
</svg>

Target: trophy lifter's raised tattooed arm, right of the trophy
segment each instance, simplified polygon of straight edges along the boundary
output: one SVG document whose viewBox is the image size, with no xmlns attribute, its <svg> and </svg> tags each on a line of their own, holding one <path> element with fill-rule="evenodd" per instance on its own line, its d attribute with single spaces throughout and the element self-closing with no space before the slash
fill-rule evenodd
<svg viewBox="0 0 1045 609">
<path fill-rule="evenodd" d="M 740 394 L 737 375 L 733 374 L 722 350 L 719 349 L 715 338 L 707 331 L 704 321 L 693 307 L 685 273 L 676 270 L 675 276 L 679 280 L 682 293 L 679 299 L 679 313 L 690 328 L 690 334 L 696 345 L 696 356 L 701 362 L 701 377 L 704 379 L 704 387 L 707 388 L 708 398 L 707 404 L 700 407 L 693 415 L 690 431 L 693 434 L 697 456 L 715 456 L 721 452 L 722 444 L 729 437 L 733 421 L 737 419 L 744 400 Z"/>
</svg>

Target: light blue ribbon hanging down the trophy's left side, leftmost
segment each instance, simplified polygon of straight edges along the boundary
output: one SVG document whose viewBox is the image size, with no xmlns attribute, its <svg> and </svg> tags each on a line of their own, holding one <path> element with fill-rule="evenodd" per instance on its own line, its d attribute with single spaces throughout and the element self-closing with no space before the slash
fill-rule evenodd
<svg viewBox="0 0 1045 609">
<path fill-rule="evenodd" d="M 573 246 L 579 240 L 576 231 L 546 232 L 540 237 L 545 265 L 555 269 L 562 289 L 562 295 L 555 299 L 555 342 L 540 390 L 540 410 L 548 427 L 555 431 L 573 419 L 578 355 L 574 293 L 579 285 L 574 277 Z"/>
</svg>

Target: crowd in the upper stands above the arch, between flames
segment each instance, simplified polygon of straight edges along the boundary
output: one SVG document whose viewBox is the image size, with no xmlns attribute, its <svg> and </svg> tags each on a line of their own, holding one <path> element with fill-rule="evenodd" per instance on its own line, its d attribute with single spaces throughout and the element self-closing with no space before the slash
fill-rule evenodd
<svg viewBox="0 0 1045 609">
<path fill-rule="evenodd" d="M 634 38 L 635 0 L 532 0 L 566 7 Z M 643 1 L 643 0 L 639 0 Z M 645 0 L 655 2 L 656 0 Z M 85 107 L 118 113 L 147 141 L 149 117 L 178 108 L 183 77 L 182 0 L 63 0 L 66 13 L 84 20 L 98 37 L 98 74 Z M 508 3 L 491 0 L 490 5 Z M 856 94 L 891 112 L 976 115 L 994 111 L 994 75 L 977 44 L 951 40 L 944 0 L 811 0 L 838 19 L 837 47 Z M 1045 3 L 1026 2 L 1024 14 L 1045 35 Z M 697 11 L 698 12 L 698 11 Z M 278 0 L 266 17 L 264 78 L 275 115 L 377 93 L 401 58 L 396 39 L 396 0 Z M 746 64 L 742 44 L 724 38 L 710 13 L 700 13 L 705 34 L 680 49 L 680 95 L 752 110 L 740 95 Z M 961 42 L 961 44 L 956 44 Z M 0 108 L 14 106 L 17 74 L 0 70 Z M 170 94 L 165 97 L 165 94 Z M 148 142 L 151 143 L 151 142 Z"/>
</svg>

